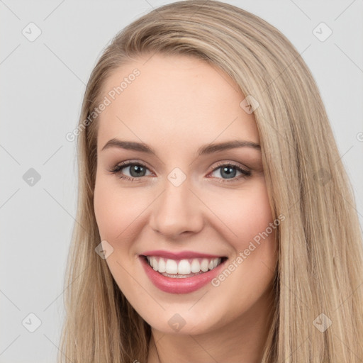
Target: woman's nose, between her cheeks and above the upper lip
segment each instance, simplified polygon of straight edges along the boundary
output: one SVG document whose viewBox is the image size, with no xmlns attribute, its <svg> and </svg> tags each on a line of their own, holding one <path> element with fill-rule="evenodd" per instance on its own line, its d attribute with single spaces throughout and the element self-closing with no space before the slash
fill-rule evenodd
<svg viewBox="0 0 363 363">
<path fill-rule="evenodd" d="M 150 226 L 172 240 L 198 233 L 203 228 L 202 207 L 187 181 L 179 186 L 167 181 L 162 194 L 152 203 Z"/>
</svg>

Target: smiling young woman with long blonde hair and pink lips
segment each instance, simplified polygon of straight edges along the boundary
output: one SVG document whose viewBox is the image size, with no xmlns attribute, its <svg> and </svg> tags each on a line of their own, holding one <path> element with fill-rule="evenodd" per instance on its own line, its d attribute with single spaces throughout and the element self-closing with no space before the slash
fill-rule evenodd
<svg viewBox="0 0 363 363">
<path fill-rule="evenodd" d="M 60 362 L 359 362 L 362 237 L 289 40 L 180 1 L 106 48 L 79 121 Z"/>
</svg>

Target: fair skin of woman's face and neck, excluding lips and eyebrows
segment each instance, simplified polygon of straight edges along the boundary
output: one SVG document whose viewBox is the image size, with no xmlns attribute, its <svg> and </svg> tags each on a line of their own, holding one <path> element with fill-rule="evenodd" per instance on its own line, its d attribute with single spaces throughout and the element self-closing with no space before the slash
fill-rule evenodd
<svg viewBox="0 0 363 363">
<path fill-rule="evenodd" d="M 111 274 L 152 327 L 147 362 L 257 363 L 271 323 L 274 232 L 218 287 L 189 294 L 157 289 L 138 257 L 147 250 L 189 250 L 228 257 L 228 264 L 266 230 L 273 219 L 260 150 L 196 155 L 209 143 L 259 143 L 255 118 L 240 107 L 245 96 L 228 74 L 187 56 L 138 57 L 108 78 L 104 96 L 135 68 L 140 75 L 99 118 L 94 211 L 101 240 L 113 247 L 106 259 Z M 102 150 L 113 138 L 143 142 L 157 156 Z M 130 167 L 110 172 L 128 160 L 144 164 L 144 176 L 121 179 L 121 173 L 130 177 Z M 230 181 L 218 162 L 251 175 L 233 169 Z M 167 179 L 175 167 L 186 175 L 180 186 Z M 178 332 L 168 323 L 176 313 L 185 320 Z"/>
</svg>

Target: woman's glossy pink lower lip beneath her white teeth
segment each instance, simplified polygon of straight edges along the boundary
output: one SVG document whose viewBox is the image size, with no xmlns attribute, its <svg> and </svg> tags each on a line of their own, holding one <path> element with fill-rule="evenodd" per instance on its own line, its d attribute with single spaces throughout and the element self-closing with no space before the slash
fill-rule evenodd
<svg viewBox="0 0 363 363">
<path fill-rule="evenodd" d="M 147 277 L 152 281 L 158 289 L 169 292 L 170 294 L 188 294 L 190 292 L 201 289 L 203 286 L 211 282 L 223 268 L 225 261 L 214 269 L 211 269 L 208 272 L 204 272 L 203 274 L 198 274 L 193 277 L 180 277 L 173 279 L 172 277 L 166 277 L 160 272 L 155 271 L 150 264 L 147 263 L 145 257 L 140 256 L 141 264 L 145 269 L 145 273 Z"/>
</svg>

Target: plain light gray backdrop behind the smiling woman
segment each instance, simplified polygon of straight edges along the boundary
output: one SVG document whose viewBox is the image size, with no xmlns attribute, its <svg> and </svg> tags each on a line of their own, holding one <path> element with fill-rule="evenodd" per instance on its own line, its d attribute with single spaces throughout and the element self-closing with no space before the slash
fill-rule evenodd
<svg viewBox="0 0 363 363">
<path fill-rule="evenodd" d="M 77 200 L 76 142 L 65 135 L 77 125 L 85 84 L 111 38 L 169 2 L 0 0 L 0 362 L 55 362 Z M 363 1 L 226 2 L 272 23 L 302 53 L 323 96 L 362 223 Z M 325 41 L 315 34 L 325 36 L 326 29 L 313 33 L 321 22 L 333 30 Z M 37 28 L 40 36 L 28 40 Z"/>
</svg>

